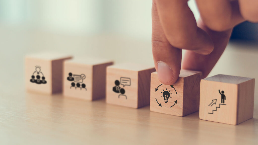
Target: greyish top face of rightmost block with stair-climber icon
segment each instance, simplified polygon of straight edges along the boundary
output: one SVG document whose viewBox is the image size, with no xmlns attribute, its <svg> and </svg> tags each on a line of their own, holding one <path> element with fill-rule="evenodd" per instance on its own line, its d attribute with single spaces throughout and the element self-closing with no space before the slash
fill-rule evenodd
<svg viewBox="0 0 258 145">
<path fill-rule="evenodd" d="M 214 82 L 221 82 L 221 83 L 228 83 L 228 84 L 241 84 L 243 82 L 246 82 L 248 80 L 251 80 L 254 78 L 248 78 L 248 77 L 238 77 L 238 76 L 230 76 L 230 75 L 215 75 L 212 77 L 208 77 L 202 80 L 209 80 Z"/>
</svg>

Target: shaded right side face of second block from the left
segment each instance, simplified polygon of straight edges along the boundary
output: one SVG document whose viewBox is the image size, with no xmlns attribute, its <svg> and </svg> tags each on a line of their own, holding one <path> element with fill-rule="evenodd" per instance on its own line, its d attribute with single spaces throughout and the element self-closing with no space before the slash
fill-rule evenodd
<svg viewBox="0 0 258 145">
<path fill-rule="evenodd" d="M 106 69 L 113 62 L 93 66 L 92 100 L 105 98 L 106 96 Z"/>
</svg>

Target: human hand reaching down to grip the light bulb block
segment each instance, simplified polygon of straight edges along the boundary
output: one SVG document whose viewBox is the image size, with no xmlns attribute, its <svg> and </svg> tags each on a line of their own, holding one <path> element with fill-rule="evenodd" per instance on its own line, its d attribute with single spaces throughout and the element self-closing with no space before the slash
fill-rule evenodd
<svg viewBox="0 0 258 145">
<path fill-rule="evenodd" d="M 196 0 L 196 20 L 188 0 L 153 0 L 152 54 L 160 82 L 172 85 L 181 69 L 197 70 L 205 78 L 228 44 L 232 28 L 245 21 L 258 22 L 256 0 Z M 240 7 L 240 10 L 239 10 Z"/>
</svg>

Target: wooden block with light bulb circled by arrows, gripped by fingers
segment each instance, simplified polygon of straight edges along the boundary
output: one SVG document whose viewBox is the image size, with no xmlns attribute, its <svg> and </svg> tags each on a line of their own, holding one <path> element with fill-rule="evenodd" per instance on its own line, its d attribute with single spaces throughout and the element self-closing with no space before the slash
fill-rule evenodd
<svg viewBox="0 0 258 145">
<path fill-rule="evenodd" d="M 178 80 L 164 85 L 151 73 L 150 110 L 185 116 L 199 110 L 201 72 L 181 70 Z"/>
</svg>

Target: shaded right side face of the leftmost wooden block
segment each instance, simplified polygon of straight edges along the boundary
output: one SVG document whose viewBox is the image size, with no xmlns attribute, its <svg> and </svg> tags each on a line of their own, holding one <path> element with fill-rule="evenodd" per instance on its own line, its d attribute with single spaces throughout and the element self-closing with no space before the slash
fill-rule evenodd
<svg viewBox="0 0 258 145">
<path fill-rule="evenodd" d="M 70 59 L 58 59 L 53 60 L 51 66 L 52 72 L 52 93 L 62 92 L 63 86 L 63 63 L 65 60 Z"/>
</svg>

